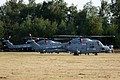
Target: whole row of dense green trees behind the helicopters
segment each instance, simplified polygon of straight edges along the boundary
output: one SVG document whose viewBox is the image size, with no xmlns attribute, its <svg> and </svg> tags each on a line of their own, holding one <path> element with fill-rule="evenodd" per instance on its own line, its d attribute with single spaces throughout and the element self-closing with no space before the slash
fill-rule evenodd
<svg viewBox="0 0 120 80">
<path fill-rule="evenodd" d="M 82 10 L 74 4 L 68 6 L 64 0 L 28 1 L 9 0 L 0 6 L 0 38 L 11 35 L 11 41 L 18 44 L 30 33 L 36 37 L 115 35 L 114 45 L 120 48 L 119 0 L 101 0 L 98 7 L 90 1 Z"/>
</svg>

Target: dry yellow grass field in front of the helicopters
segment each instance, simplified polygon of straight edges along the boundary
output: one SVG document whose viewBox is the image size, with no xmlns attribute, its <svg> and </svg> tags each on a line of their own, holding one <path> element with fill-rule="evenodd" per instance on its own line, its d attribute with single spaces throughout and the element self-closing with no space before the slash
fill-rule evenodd
<svg viewBox="0 0 120 80">
<path fill-rule="evenodd" d="M 0 52 L 0 80 L 120 80 L 120 54 Z"/>
</svg>

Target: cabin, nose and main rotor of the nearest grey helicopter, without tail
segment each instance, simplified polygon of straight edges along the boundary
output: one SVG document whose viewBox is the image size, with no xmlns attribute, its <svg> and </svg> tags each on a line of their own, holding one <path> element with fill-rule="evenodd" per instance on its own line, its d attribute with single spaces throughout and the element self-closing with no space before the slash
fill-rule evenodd
<svg viewBox="0 0 120 80">
<path fill-rule="evenodd" d="M 90 54 L 93 53 L 98 55 L 98 53 L 111 53 L 113 52 L 113 45 L 103 45 L 101 41 L 95 39 L 89 39 L 86 37 L 115 37 L 115 36 L 75 36 L 75 35 L 55 35 L 57 38 L 68 38 L 73 37 L 72 40 L 67 43 L 63 43 L 63 48 L 73 53 L 74 55 L 79 54 Z M 76 38 L 77 37 L 77 38 Z"/>
</svg>

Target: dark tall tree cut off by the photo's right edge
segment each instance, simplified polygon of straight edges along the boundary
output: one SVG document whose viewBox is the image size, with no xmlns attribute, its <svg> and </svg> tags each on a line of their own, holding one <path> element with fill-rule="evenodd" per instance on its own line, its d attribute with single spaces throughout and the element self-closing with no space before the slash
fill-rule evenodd
<svg viewBox="0 0 120 80">
<path fill-rule="evenodd" d="M 111 0 L 111 12 L 112 12 L 112 19 L 111 22 L 116 26 L 116 38 L 115 42 L 117 43 L 116 46 L 120 47 L 120 0 Z"/>
</svg>

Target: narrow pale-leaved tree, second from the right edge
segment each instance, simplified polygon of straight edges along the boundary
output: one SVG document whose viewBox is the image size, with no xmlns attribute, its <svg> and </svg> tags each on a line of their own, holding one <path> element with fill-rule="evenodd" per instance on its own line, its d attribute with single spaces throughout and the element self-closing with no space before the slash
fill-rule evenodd
<svg viewBox="0 0 120 80">
<path fill-rule="evenodd" d="M 103 27 L 103 34 L 110 34 L 109 28 L 110 28 L 110 4 L 106 0 L 101 0 L 101 7 L 99 10 L 99 16 L 102 18 L 102 27 Z"/>
</svg>

